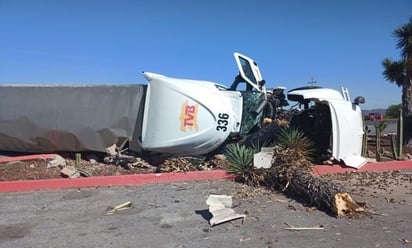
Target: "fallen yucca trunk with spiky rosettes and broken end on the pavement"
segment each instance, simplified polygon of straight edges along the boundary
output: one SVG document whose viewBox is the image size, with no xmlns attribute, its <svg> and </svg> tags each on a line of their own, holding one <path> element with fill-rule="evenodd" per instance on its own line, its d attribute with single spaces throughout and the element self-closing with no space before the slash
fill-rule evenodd
<svg viewBox="0 0 412 248">
<path fill-rule="evenodd" d="M 231 163 L 228 171 L 236 176 L 237 181 L 284 192 L 339 218 L 363 212 L 364 209 L 341 186 L 312 173 L 312 147 L 311 141 L 300 130 L 284 128 L 273 147 L 270 168 L 255 168 L 255 151 L 232 145 L 226 150 Z"/>
</svg>

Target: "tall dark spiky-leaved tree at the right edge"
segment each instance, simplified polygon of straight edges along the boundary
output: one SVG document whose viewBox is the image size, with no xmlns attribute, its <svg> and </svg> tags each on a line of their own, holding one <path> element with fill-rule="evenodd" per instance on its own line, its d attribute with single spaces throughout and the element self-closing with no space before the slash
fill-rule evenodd
<svg viewBox="0 0 412 248">
<path fill-rule="evenodd" d="M 393 31 L 396 47 L 401 50 L 401 59 L 385 58 L 383 76 L 402 88 L 402 115 L 404 120 L 404 143 L 412 141 L 412 17 L 409 22 Z"/>
</svg>

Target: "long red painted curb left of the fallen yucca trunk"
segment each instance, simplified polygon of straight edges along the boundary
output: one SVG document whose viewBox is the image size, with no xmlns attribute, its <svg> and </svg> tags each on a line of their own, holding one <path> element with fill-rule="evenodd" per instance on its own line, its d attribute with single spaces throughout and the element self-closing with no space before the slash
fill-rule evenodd
<svg viewBox="0 0 412 248">
<path fill-rule="evenodd" d="M 129 186 L 178 181 L 203 181 L 231 178 L 225 170 L 191 171 L 186 173 L 136 174 L 0 182 L 0 192 L 22 192 L 85 187 Z"/>
</svg>

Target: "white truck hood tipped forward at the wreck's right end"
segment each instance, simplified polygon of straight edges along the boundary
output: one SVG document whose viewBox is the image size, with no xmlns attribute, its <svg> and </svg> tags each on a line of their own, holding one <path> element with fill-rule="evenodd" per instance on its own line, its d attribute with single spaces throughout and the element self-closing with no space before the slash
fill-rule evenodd
<svg viewBox="0 0 412 248">
<path fill-rule="evenodd" d="M 362 112 L 358 100 L 351 102 L 348 90 L 341 90 L 320 87 L 290 90 L 288 100 L 303 106 L 303 110 L 292 117 L 292 124 L 317 143 L 318 152 L 330 150 L 334 159 L 360 168 L 367 162 L 361 156 Z"/>
</svg>

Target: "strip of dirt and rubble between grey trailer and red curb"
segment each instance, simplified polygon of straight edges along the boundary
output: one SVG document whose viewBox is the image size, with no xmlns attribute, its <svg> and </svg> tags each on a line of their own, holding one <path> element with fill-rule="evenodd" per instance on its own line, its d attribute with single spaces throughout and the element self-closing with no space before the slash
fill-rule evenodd
<svg viewBox="0 0 412 248">
<path fill-rule="evenodd" d="M 64 160 L 66 166 L 76 167 L 75 154 L 65 154 Z M 188 159 L 184 158 L 157 158 L 154 163 L 148 163 L 145 160 L 136 157 L 136 162 L 124 164 L 115 164 L 104 162 L 102 156 L 94 154 L 82 157 L 78 168 L 86 174 L 81 176 L 118 176 L 147 174 L 155 172 L 185 172 L 195 170 L 212 170 L 224 169 L 227 167 L 226 162 L 220 159 L 210 159 L 202 163 L 202 166 L 194 166 Z M 24 161 L 12 161 L 0 163 L 0 182 L 1 181 L 19 181 L 19 180 L 39 180 L 62 178 L 61 167 L 47 168 L 51 159 L 36 159 Z"/>
</svg>

